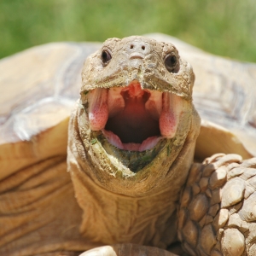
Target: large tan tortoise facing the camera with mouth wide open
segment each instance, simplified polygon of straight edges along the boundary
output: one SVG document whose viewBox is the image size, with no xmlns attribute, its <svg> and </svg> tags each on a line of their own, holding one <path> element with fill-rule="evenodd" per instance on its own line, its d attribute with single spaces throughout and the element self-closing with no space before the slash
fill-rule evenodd
<svg viewBox="0 0 256 256">
<path fill-rule="evenodd" d="M 1 255 L 255 255 L 255 64 L 151 34 L 0 71 Z"/>
</svg>

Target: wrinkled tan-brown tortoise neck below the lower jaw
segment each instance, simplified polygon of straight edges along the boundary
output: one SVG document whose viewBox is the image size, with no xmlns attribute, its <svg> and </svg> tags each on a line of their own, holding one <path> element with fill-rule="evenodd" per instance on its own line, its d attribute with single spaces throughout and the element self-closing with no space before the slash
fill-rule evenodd
<svg viewBox="0 0 256 256">
<path fill-rule="evenodd" d="M 70 156 L 69 156 L 69 160 Z M 166 248 L 176 238 L 179 190 L 129 197 L 94 183 L 73 160 L 69 163 L 75 195 L 83 209 L 82 235 L 97 243 L 137 243 Z"/>
</svg>

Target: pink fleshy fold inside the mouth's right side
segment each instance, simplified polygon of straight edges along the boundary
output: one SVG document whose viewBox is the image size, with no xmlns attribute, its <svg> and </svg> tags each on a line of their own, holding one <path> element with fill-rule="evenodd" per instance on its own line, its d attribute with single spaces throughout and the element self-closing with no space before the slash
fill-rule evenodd
<svg viewBox="0 0 256 256">
<path fill-rule="evenodd" d="M 163 108 L 160 114 L 160 132 L 163 137 L 174 137 L 182 111 L 182 100 L 175 94 L 163 93 Z"/>
</svg>

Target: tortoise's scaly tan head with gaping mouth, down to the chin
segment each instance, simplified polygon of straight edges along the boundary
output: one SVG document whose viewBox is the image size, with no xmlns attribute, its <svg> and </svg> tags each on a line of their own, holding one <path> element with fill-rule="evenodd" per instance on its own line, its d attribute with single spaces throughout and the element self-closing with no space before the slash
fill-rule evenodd
<svg viewBox="0 0 256 256">
<path fill-rule="evenodd" d="M 108 39 L 84 62 L 82 80 L 70 129 L 77 131 L 84 172 L 129 195 L 163 188 L 179 172 L 186 176 L 200 119 L 192 104 L 195 75 L 172 44 Z"/>
</svg>

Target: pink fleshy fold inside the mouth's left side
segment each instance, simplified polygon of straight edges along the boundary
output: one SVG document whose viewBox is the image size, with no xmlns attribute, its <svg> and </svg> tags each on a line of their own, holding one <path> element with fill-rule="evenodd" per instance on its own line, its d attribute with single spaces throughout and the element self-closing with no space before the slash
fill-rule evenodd
<svg viewBox="0 0 256 256">
<path fill-rule="evenodd" d="M 90 90 L 88 96 L 89 120 L 92 131 L 102 130 L 108 121 L 108 90 Z"/>
</svg>

